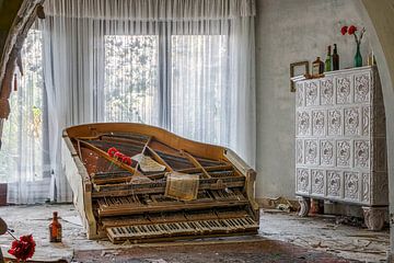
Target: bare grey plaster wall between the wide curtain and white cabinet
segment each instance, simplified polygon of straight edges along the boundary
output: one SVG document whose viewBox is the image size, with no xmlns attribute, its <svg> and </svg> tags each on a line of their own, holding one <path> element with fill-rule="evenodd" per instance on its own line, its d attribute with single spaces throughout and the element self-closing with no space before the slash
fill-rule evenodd
<svg viewBox="0 0 394 263">
<path fill-rule="evenodd" d="M 294 93 L 289 65 L 325 59 L 326 47 L 338 44 L 340 68 L 352 66 L 352 36 L 345 24 L 363 26 L 354 1 L 257 0 L 257 197 L 294 197 Z M 368 32 L 361 46 L 364 64 L 371 50 Z"/>
</svg>

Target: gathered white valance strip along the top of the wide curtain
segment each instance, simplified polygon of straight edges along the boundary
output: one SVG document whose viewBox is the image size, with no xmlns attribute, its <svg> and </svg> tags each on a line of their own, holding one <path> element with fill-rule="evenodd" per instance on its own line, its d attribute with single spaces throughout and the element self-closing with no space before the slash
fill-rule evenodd
<svg viewBox="0 0 394 263">
<path fill-rule="evenodd" d="M 46 0 L 51 16 L 127 21 L 190 21 L 254 16 L 255 0 Z"/>
</svg>

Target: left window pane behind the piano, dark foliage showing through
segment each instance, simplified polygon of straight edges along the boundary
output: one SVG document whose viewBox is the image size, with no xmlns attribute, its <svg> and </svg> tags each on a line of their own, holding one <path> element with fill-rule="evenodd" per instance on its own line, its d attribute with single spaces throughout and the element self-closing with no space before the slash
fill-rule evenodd
<svg viewBox="0 0 394 263">
<path fill-rule="evenodd" d="M 158 125 L 158 36 L 105 36 L 106 122 Z"/>
</svg>

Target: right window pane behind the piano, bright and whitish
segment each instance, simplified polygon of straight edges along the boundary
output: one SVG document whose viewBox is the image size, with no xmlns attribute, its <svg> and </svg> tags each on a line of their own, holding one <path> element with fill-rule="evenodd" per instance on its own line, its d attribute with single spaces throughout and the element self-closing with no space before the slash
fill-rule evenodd
<svg viewBox="0 0 394 263">
<path fill-rule="evenodd" d="M 228 142 L 227 39 L 223 35 L 172 36 L 174 133 L 206 142 Z"/>
</svg>

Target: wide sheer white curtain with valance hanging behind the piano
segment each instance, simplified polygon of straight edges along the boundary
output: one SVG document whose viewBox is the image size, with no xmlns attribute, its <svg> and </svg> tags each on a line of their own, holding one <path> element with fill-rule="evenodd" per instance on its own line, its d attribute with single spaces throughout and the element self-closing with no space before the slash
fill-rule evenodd
<svg viewBox="0 0 394 263">
<path fill-rule="evenodd" d="M 140 122 L 255 164 L 254 0 L 46 0 L 44 79 L 58 201 L 60 136 Z"/>
</svg>

